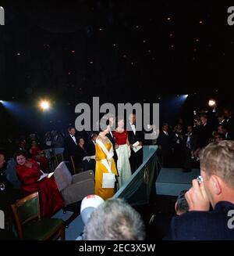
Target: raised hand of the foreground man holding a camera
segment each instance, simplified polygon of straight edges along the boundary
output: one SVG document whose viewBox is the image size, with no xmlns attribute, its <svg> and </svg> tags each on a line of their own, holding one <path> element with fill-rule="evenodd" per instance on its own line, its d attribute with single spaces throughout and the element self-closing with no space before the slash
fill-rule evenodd
<svg viewBox="0 0 234 256">
<path fill-rule="evenodd" d="M 190 211 L 209 211 L 210 201 L 204 189 L 204 182 L 197 182 L 193 179 L 193 186 L 185 194 L 186 200 L 190 206 Z"/>
</svg>

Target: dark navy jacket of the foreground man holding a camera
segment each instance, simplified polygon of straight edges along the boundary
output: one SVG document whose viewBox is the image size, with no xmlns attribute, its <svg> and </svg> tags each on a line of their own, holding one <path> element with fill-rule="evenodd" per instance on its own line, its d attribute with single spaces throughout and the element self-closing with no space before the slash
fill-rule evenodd
<svg viewBox="0 0 234 256">
<path fill-rule="evenodd" d="M 234 240 L 234 229 L 228 227 L 228 222 L 234 225 L 229 210 L 234 210 L 234 204 L 221 201 L 214 211 L 190 211 L 172 218 L 172 240 Z"/>
</svg>

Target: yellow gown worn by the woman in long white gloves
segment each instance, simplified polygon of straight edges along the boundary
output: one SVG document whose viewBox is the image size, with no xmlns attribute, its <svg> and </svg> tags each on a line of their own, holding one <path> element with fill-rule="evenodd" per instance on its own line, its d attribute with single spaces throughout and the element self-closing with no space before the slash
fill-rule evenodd
<svg viewBox="0 0 234 256">
<path fill-rule="evenodd" d="M 111 198 L 115 195 L 115 189 L 103 189 L 102 188 L 102 175 L 104 172 L 108 173 L 107 168 L 101 163 L 102 159 L 106 159 L 106 155 L 96 143 L 96 168 L 95 168 L 95 195 L 100 196 L 104 200 Z M 112 148 L 112 142 L 107 142 L 105 144 L 106 149 L 109 151 Z M 112 158 L 112 173 L 117 175 L 117 169 L 115 166 L 115 160 Z"/>
</svg>

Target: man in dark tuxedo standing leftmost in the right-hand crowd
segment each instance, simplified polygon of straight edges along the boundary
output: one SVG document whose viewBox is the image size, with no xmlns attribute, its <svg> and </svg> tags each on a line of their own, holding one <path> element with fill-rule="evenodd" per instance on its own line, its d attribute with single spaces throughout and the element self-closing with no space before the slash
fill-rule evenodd
<svg viewBox="0 0 234 256">
<path fill-rule="evenodd" d="M 164 123 L 158 135 L 157 145 L 162 157 L 162 166 L 172 166 L 172 135 L 168 132 L 168 124 Z"/>
</svg>

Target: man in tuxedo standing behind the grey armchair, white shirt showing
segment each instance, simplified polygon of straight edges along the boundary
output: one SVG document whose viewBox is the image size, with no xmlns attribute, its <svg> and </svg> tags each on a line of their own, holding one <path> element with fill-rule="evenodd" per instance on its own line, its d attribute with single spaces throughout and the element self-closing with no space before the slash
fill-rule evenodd
<svg viewBox="0 0 234 256">
<path fill-rule="evenodd" d="M 76 129 L 69 127 L 69 135 L 64 139 L 64 159 L 70 161 L 70 157 L 74 157 L 75 163 L 78 164 L 79 148 L 76 140 Z"/>
</svg>

